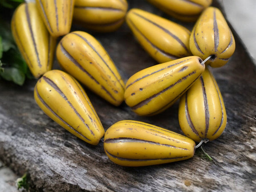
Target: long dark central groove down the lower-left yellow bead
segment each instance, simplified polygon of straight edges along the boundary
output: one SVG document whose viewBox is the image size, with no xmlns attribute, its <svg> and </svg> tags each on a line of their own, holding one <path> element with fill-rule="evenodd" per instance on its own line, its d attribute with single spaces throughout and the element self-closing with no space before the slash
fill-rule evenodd
<svg viewBox="0 0 256 192">
<path fill-rule="evenodd" d="M 57 91 L 57 93 L 59 93 L 61 95 L 61 97 L 68 103 L 68 105 L 70 106 L 70 108 L 73 109 L 73 111 L 76 113 L 76 116 L 79 117 L 79 119 L 83 122 L 83 124 L 87 127 L 87 129 L 91 132 L 91 134 L 94 136 L 93 131 L 90 129 L 89 125 L 87 123 L 85 123 L 84 118 L 78 113 L 78 111 L 76 111 L 76 108 L 74 108 L 74 106 L 72 105 L 72 103 L 67 99 L 67 96 L 65 96 L 65 94 L 62 92 L 62 90 L 57 86 L 57 84 L 55 84 L 51 79 L 43 76 L 42 77 L 44 79 L 44 81 L 47 82 L 47 84 L 49 84 L 52 88 L 55 89 L 55 91 Z"/>
</svg>

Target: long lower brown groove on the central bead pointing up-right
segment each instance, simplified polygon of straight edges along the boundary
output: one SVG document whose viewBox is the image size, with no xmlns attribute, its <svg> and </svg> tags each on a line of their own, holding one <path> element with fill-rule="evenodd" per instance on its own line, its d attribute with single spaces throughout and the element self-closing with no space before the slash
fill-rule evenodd
<svg viewBox="0 0 256 192">
<path fill-rule="evenodd" d="M 152 99 L 154 99 L 155 97 L 157 96 L 160 96 L 162 93 L 166 92 L 167 90 L 171 89 L 172 87 L 174 87 L 176 84 L 179 84 L 180 82 L 182 82 L 184 79 L 186 79 L 187 77 L 195 74 L 196 71 L 193 71 L 192 73 L 189 73 L 188 75 L 186 76 L 183 76 L 182 78 L 180 78 L 178 81 L 176 81 L 175 83 L 171 84 L 169 87 L 166 87 L 165 89 L 161 90 L 160 92 L 158 93 L 155 93 L 154 95 L 148 97 L 147 99 L 139 102 L 138 104 L 132 106 L 132 110 L 136 110 L 138 108 L 141 108 L 143 107 L 144 105 L 148 104 Z"/>
</svg>

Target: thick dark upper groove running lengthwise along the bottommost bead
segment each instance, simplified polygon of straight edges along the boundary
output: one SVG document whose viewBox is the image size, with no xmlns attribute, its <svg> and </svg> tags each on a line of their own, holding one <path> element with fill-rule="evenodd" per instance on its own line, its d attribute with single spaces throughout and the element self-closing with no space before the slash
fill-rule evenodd
<svg viewBox="0 0 256 192">
<path fill-rule="evenodd" d="M 110 139 L 106 139 L 104 141 L 104 143 L 120 143 L 120 142 L 122 142 L 122 143 L 148 143 L 151 145 L 160 145 L 160 146 L 164 146 L 164 147 L 177 148 L 177 149 L 186 150 L 186 151 L 189 150 L 187 148 L 176 147 L 175 145 L 157 143 L 154 141 L 142 140 L 142 139 L 136 139 L 136 138 L 130 138 L 130 137 L 110 138 Z"/>
</svg>

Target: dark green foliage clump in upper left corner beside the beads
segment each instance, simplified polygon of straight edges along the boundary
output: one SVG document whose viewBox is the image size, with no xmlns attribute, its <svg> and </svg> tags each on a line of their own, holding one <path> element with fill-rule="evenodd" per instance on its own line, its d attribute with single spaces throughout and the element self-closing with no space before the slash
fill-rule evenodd
<svg viewBox="0 0 256 192">
<path fill-rule="evenodd" d="M 15 7 L 24 0 L 0 0 L 0 77 L 23 85 L 25 78 L 32 79 L 32 74 L 21 56 L 12 37 L 10 17 Z M 7 15 L 7 16 L 6 16 Z"/>
</svg>

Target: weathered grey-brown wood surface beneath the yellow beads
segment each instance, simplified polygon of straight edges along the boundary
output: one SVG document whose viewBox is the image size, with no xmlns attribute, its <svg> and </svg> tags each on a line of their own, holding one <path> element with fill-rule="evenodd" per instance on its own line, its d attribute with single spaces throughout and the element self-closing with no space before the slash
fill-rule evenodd
<svg viewBox="0 0 256 192">
<path fill-rule="evenodd" d="M 166 17 L 144 1 L 128 3 L 129 8 Z M 114 33 L 93 35 L 125 80 L 156 64 L 126 25 Z M 35 191 L 256 191 L 256 68 L 236 34 L 235 39 L 231 60 L 212 70 L 227 110 L 224 133 L 204 145 L 215 162 L 196 153 L 192 159 L 158 166 L 115 165 L 105 155 L 102 142 L 84 143 L 41 111 L 33 98 L 36 81 L 27 81 L 23 87 L 0 81 L 0 159 L 19 175 L 29 173 Z M 136 119 L 182 134 L 177 104 L 157 116 L 140 117 L 125 104 L 113 107 L 87 93 L 105 130 L 119 120 Z"/>
</svg>

